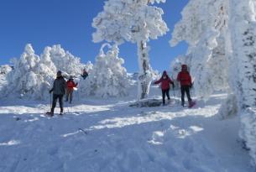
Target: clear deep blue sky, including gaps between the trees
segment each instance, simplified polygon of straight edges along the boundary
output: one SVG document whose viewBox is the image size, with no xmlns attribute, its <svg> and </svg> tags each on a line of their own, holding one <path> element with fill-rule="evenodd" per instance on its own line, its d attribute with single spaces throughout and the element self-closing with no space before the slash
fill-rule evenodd
<svg viewBox="0 0 256 172">
<path fill-rule="evenodd" d="M 25 44 L 32 44 L 37 55 L 45 46 L 61 44 L 82 62 L 93 63 L 102 43 L 93 43 L 92 18 L 102 11 L 105 0 L 0 0 L 0 65 L 19 58 Z M 171 48 L 169 40 L 180 12 L 189 0 L 167 0 L 159 4 L 170 31 L 158 40 L 150 40 L 150 64 L 154 70 L 168 70 L 170 61 L 185 54 L 187 45 Z M 128 71 L 138 70 L 136 44 L 120 46 L 120 57 Z"/>
</svg>

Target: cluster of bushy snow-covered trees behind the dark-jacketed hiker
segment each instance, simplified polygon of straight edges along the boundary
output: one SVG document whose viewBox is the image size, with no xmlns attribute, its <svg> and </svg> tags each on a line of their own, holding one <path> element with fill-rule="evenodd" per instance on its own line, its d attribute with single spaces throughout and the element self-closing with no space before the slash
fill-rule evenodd
<svg viewBox="0 0 256 172">
<path fill-rule="evenodd" d="M 13 70 L 8 73 L 4 94 L 45 100 L 57 70 L 80 76 L 83 66 L 79 58 L 65 52 L 60 45 L 46 47 L 39 57 L 32 45 L 27 44 L 20 59 L 13 59 Z"/>
</svg>

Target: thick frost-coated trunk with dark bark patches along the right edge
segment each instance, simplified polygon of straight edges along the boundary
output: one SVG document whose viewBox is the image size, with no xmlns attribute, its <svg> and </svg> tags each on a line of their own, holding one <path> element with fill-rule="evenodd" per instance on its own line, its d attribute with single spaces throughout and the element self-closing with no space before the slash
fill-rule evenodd
<svg viewBox="0 0 256 172">
<path fill-rule="evenodd" d="M 231 80 L 238 97 L 240 137 L 256 164 L 256 21 L 252 0 L 230 0 Z M 243 10 L 241 10 L 243 9 Z"/>
</svg>

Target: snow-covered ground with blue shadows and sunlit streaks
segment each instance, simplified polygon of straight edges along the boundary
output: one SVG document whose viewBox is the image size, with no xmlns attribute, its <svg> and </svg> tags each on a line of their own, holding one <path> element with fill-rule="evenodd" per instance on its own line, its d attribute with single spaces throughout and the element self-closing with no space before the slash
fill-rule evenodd
<svg viewBox="0 0 256 172">
<path fill-rule="evenodd" d="M 151 94 L 160 90 L 153 87 Z M 254 171 L 238 139 L 238 117 L 217 117 L 226 97 L 215 94 L 191 109 L 180 102 L 138 108 L 129 107 L 133 97 L 99 100 L 75 93 L 63 117 L 44 116 L 50 100 L 1 100 L 0 171 Z"/>
</svg>

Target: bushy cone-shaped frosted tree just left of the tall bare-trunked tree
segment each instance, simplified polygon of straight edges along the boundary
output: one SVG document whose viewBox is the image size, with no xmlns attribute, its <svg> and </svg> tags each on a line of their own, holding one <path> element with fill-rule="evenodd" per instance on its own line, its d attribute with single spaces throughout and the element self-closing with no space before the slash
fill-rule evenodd
<svg viewBox="0 0 256 172">
<path fill-rule="evenodd" d="M 103 49 L 108 47 L 107 54 Z M 89 76 L 82 82 L 82 91 L 87 95 L 109 97 L 127 96 L 129 80 L 122 66 L 124 60 L 118 57 L 118 45 L 103 44 Z"/>
</svg>

